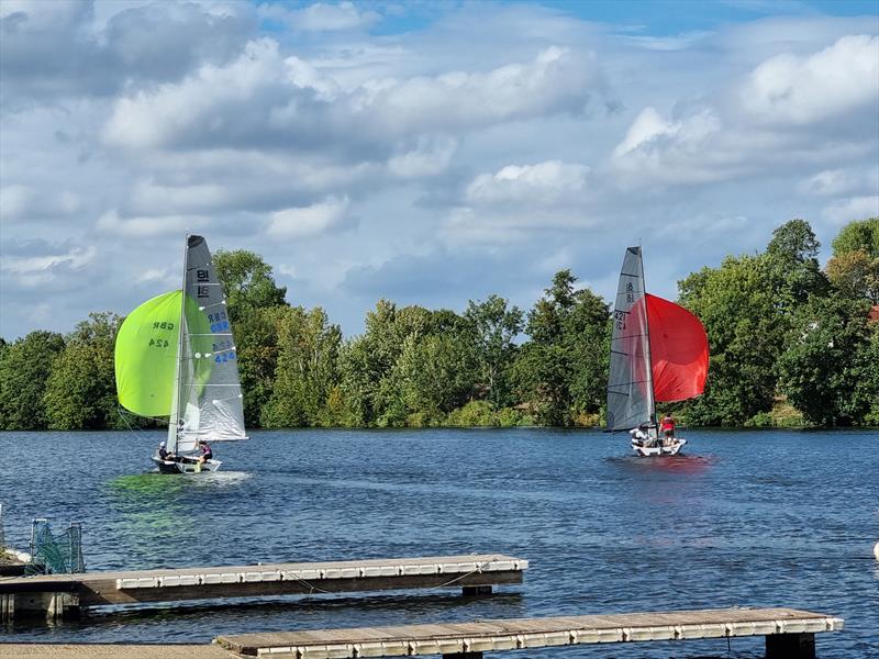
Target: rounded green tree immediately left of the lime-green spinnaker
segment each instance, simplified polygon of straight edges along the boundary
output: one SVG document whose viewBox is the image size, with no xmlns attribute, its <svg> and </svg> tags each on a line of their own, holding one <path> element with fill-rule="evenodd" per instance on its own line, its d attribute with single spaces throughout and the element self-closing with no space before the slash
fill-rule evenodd
<svg viewBox="0 0 879 659">
<path fill-rule="evenodd" d="M 49 428 L 116 427 L 113 349 L 121 324 L 113 313 L 91 313 L 67 337 L 43 396 Z"/>
</svg>

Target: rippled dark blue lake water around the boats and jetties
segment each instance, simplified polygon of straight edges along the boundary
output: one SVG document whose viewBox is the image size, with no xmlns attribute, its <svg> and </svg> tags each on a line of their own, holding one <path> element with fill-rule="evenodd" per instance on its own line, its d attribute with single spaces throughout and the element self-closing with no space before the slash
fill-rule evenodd
<svg viewBox="0 0 879 659">
<path fill-rule="evenodd" d="M 879 434 L 697 432 L 689 455 L 542 429 L 254 433 L 215 474 L 149 471 L 162 433 L 0 434 L 8 544 L 84 525 L 89 569 L 468 552 L 527 558 L 521 587 L 91 612 L 0 641 L 193 643 L 218 634 L 665 608 L 792 606 L 845 618 L 822 658 L 879 657 Z M 763 656 L 763 638 L 519 652 Z M 0 652 L 2 654 L 2 652 Z M 512 655 L 511 655 L 512 656 Z"/>
</svg>

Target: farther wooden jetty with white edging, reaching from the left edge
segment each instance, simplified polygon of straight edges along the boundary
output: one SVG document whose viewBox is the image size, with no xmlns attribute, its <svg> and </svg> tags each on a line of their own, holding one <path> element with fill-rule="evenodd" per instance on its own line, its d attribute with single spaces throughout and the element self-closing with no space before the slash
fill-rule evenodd
<svg viewBox="0 0 879 659">
<path fill-rule="evenodd" d="M 396 589 L 489 593 L 522 583 L 528 561 L 500 554 L 84 572 L 0 579 L 0 621 L 64 617 L 82 606 Z"/>
</svg>

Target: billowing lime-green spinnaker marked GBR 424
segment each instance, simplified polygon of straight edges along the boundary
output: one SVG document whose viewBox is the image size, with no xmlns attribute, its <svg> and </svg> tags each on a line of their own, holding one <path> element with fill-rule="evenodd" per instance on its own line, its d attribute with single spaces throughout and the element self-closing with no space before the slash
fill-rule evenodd
<svg viewBox="0 0 879 659">
<path fill-rule="evenodd" d="M 129 314 L 116 335 L 119 402 L 141 416 L 173 412 L 181 298 L 181 291 L 171 291 L 147 300 Z M 198 302 L 188 295 L 186 316 L 190 332 L 210 333 Z"/>
</svg>

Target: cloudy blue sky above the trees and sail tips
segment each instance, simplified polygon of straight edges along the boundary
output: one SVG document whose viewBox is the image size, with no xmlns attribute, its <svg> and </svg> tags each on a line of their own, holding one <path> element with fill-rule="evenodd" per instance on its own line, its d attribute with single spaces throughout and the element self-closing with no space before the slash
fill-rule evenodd
<svg viewBox="0 0 879 659">
<path fill-rule="evenodd" d="M 879 215 L 879 1 L 0 1 L 0 336 L 249 249 L 346 335 L 380 298 L 611 300 Z"/>
</svg>

